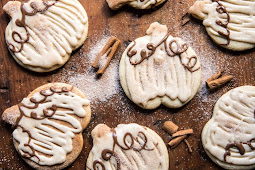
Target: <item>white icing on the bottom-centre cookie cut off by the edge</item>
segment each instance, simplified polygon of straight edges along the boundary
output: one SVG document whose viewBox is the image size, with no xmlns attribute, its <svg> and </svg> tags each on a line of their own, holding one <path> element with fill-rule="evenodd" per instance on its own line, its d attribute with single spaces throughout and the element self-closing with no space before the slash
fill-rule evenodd
<svg viewBox="0 0 255 170">
<path fill-rule="evenodd" d="M 98 125 L 102 126 L 102 125 Z M 92 131 L 93 135 L 93 148 L 91 150 L 91 154 L 93 155 L 92 161 L 101 161 L 105 169 L 116 169 L 117 163 L 115 158 L 111 158 L 110 161 L 105 161 L 101 157 L 101 153 L 105 149 L 112 150 L 112 146 L 114 144 L 112 132 L 109 130 L 103 134 L 103 136 L 99 136 L 96 132 L 98 126 Z M 103 125 L 105 126 L 105 125 Z M 106 129 L 105 129 L 106 130 Z M 118 143 L 126 148 L 124 144 L 123 138 L 126 133 L 131 133 L 134 138 L 138 136 L 138 141 L 135 139 L 133 148 L 140 148 L 141 145 L 144 144 L 144 137 L 142 135 L 138 135 L 139 132 L 143 132 L 147 137 L 146 149 L 149 150 L 141 150 L 135 151 L 134 149 L 124 150 L 121 149 L 118 145 L 115 145 L 114 152 L 118 156 L 120 160 L 120 168 L 121 169 L 132 169 L 132 170 L 148 170 L 148 169 L 157 169 L 157 170 L 168 170 L 168 163 L 166 162 L 166 155 L 164 152 L 164 145 L 158 143 L 158 139 L 155 135 L 152 135 L 144 127 L 138 124 L 120 124 L 115 129 Z M 131 145 L 130 137 L 126 138 L 127 145 Z M 167 154 L 167 153 L 166 153 Z M 98 166 L 100 167 L 100 166 Z M 114 168 L 113 168 L 114 167 Z M 93 169 L 92 167 L 89 167 Z"/>
</svg>

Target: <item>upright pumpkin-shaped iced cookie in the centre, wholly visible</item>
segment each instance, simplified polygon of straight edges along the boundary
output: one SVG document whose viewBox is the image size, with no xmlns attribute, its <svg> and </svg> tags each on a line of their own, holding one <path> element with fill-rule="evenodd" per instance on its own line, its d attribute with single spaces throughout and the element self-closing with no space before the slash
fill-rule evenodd
<svg viewBox="0 0 255 170">
<path fill-rule="evenodd" d="M 154 109 L 161 103 L 179 108 L 190 101 L 201 83 L 196 53 L 167 27 L 152 23 L 129 44 L 120 61 L 120 82 L 126 95 L 138 106 Z"/>
</svg>

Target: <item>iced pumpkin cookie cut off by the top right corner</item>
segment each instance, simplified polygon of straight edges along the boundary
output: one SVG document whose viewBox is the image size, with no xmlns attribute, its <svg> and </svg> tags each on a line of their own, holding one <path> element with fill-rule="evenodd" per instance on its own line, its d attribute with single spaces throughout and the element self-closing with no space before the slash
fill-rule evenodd
<svg viewBox="0 0 255 170">
<path fill-rule="evenodd" d="M 255 46 L 255 1 L 203 0 L 189 9 L 203 20 L 206 31 L 220 46 L 243 51 Z"/>
</svg>

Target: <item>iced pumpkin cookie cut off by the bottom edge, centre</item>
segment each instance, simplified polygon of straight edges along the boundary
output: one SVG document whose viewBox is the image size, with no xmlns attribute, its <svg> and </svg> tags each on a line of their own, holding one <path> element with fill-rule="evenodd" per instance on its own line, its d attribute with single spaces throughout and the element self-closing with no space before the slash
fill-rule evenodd
<svg viewBox="0 0 255 170">
<path fill-rule="evenodd" d="M 87 170 L 168 170 L 166 145 L 147 127 L 132 123 L 110 128 L 100 124 L 91 133 L 93 148 L 87 160 Z"/>
</svg>

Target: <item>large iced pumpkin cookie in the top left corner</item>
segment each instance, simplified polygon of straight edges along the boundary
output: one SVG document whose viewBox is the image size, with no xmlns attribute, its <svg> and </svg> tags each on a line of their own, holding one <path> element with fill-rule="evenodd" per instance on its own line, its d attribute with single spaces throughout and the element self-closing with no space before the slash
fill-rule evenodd
<svg viewBox="0 0 255 170">
<path fill-rule="evenodd" d="M 64 65 L 87 37 L 88 18 L 78 0 L 9 1 L 5 39 L 23 67 L 48 72 Z"/>
</svg>

